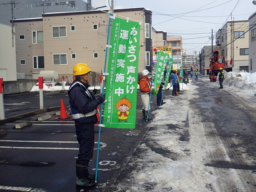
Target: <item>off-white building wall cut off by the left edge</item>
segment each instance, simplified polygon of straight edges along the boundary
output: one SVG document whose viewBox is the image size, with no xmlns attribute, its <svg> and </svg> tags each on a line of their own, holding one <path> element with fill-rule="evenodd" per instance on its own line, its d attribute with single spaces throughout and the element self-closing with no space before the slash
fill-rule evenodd
<svg viewBox="0 0 256 192">
<path fill-rule="evenodd" d="M 16 47 L 15 39 L 12 41 L 12 27 L 0 24 L 0 34 L 0 78 L 3 81 L 16 81 Z"/>
</svg>

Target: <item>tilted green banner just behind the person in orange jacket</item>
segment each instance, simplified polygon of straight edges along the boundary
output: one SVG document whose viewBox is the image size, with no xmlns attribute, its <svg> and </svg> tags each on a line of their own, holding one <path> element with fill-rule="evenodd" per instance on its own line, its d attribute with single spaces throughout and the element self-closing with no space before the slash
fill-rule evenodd
<svg viewBox="0 0 256 192">
<path fill-rule="evenodd" d="M 169 60 L 170 55 L 168 53 L 159 51 L 157 53 L 157 61 L 155 66 L 154 74 L 154 84 L 153 84 L 153 93 L 154 96 L 157 95 L 160 84 L 162 83 L 164 70 L 166 68 L 167 61 Z"/>
</svg>

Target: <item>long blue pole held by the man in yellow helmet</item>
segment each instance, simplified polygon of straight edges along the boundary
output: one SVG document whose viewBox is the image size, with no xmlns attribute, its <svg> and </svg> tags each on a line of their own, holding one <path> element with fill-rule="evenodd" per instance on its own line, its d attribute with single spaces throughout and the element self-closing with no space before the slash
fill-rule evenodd
<svg viewBox="0 0 256 192">
<path fill-rule="evenodd" d="M 109 39 L 109 33 L 110 33 L 110 23 L 111 23 L 111 14 L 109 15 L 109 21 L 108 21 L 108 37 L 107 37 L 107 45 L 108 45 L 108 39 Z M 107 57 L 108 57 L 108 46 L 106 47 L 106 55 L 105 55 L 105 66 L 104 66 L 104 76 L 102 81 L 102 92 L 104 93 L 104 84 L 105 84 L 105 72 L 106 72 L 106 65 L 107 65 Z M 102 124 L 102 107 L 103 103 L 100 105 L 100 115 L 99 115 L 99 136 L 98 136 L 98 146 L 97 146 L 97 158 L 96 158 L 96 172 L 95 172 L 95 183 L 97 183 L 97 174 L 98 174 L 98 164 L 99 164 L 99 141 L 100 141 L 100 131 L 101 131 L 101 124 Z"/>
</svg>

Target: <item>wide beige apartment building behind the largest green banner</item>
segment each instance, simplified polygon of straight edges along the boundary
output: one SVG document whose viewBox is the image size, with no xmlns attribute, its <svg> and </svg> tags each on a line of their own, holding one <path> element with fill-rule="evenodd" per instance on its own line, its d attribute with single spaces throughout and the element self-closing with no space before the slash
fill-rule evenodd
<svg viewBox="0 0 256 192">
<path fill-rule="evenodd" d="M 142 22 L 138 71 L 150 70 L 152 12 L 145 8 L 114 12 L 116 17 Z M 109 14 L 99 10 L 47 13 L 39 18 L 15 20 L 17 72 L 25 73 L 26 79 L 41 70 L 72 75 L 73 67 L 84 62 L 100 73 L 104 70 L 108 20 Z M 164 35 L 160 35 L 161 45 L 166 41 Z"/>
</svg>

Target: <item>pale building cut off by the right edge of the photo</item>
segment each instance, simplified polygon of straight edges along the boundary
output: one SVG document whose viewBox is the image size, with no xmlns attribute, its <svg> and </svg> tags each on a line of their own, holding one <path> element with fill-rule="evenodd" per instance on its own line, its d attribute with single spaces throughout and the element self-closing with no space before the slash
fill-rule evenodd
<svg viewBox="0 0 256 192">
<path fill-rule="evenodd" d="M 256 12 L 249 17 L 249 73 L 256 72 Z"/>
</svg>

